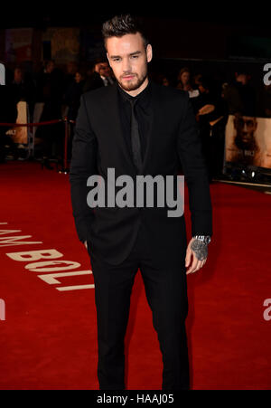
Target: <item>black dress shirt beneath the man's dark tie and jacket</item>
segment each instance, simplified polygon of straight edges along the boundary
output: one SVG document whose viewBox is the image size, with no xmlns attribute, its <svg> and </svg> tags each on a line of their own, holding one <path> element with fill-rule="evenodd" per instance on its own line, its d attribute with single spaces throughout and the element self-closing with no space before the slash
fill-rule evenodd
<svg viewBox="0 0 271 408">
<path fill-rule="evenodd" d="M 120 121 L 123 130 L 123 135 L 126 138 L 130 154 L 132 155 L 132 143 L 131 143 L 131 104 L 129 100 L 136 100 L 135 102 L 135 117 L 138 122 L 139 137 L 141 144 L 141 157 L 144 160 L 145 149 L 147 145 L 148 131 L 150 126 L 151 117 L 151 83 L 145 87 L 145 90 L 140 92 L 135 97 L 129 95 L 125 90 L 117 87 L 118 89 L 118 101 L 120 111 Z"/>
</svg>

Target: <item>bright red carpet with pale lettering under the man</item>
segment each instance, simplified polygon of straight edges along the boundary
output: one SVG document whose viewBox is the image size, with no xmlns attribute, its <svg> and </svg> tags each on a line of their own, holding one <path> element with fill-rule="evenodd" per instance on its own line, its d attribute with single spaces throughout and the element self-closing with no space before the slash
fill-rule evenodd
<svg viewBox="0 0 271 408">
<path fill-rule="evenodd" d="M 0 389 L 98 389 L 93 277 L 75 232 L 68 176 L 9 162 L 0 166 L 0 185 Z M 271 320 L 263 303 L 271 298 L 271 196 L 220 183 L 210 191 L 209 259 L 188 276 L 192 388 L 270 389 Z M 190 238 L 187 204 L 185 217 Z M 50 260 L 11 255 L 45 250 L 60 252 L 50 271 Z M 64 276 L 49 280 L 52 268 Z M 162 356 L 140 273 L 126 347 L 128 389 L 160 389 Z"/>
</svg>

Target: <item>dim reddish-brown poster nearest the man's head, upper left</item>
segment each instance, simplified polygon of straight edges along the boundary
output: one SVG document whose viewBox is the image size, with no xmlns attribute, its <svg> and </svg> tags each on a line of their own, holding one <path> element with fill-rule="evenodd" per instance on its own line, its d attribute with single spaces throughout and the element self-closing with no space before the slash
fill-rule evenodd
<svg viewBox="0 0 271 408">
<path fill-rule="evenodd" d="M 48 28 L 43 33 L 42 43 L 51 43 L 51 59 L 56 63 L 79 60 L 79 28 Z"/>
</svg>

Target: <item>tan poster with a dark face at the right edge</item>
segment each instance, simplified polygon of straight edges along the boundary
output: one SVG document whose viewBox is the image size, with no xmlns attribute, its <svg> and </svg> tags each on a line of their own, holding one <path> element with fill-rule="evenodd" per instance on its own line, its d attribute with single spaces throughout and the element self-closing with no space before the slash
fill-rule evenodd
<svg viewBox="0 0 271 408">
<path fill-rule="evenodd" d="M 271 119 L 229 115 L 225 162 L 271 169 Z"/>
</svg>

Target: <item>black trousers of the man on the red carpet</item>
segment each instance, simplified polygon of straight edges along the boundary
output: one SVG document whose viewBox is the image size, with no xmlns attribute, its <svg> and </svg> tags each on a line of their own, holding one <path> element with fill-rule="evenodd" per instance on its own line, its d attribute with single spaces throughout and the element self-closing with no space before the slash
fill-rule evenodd
<svg viewBox="0 0 271 408">
<path fill-rule="evenodd" d="M 98 322 L 98 383 L 100 390 L 124 390 L 124 339 L 130 296 L 138 268 L 153 313 L 163 356 L 163 390 L 189 389 L 189 363 L 185 330 L 188 312 L 184 260 L 167 268 L 152 266 L 149 237 L 141 224 L 135 246 L 126 261 L 109 265 L 91 251 Z M 144 356 L 142 356 L 144 358 Z"/>
</svg>

